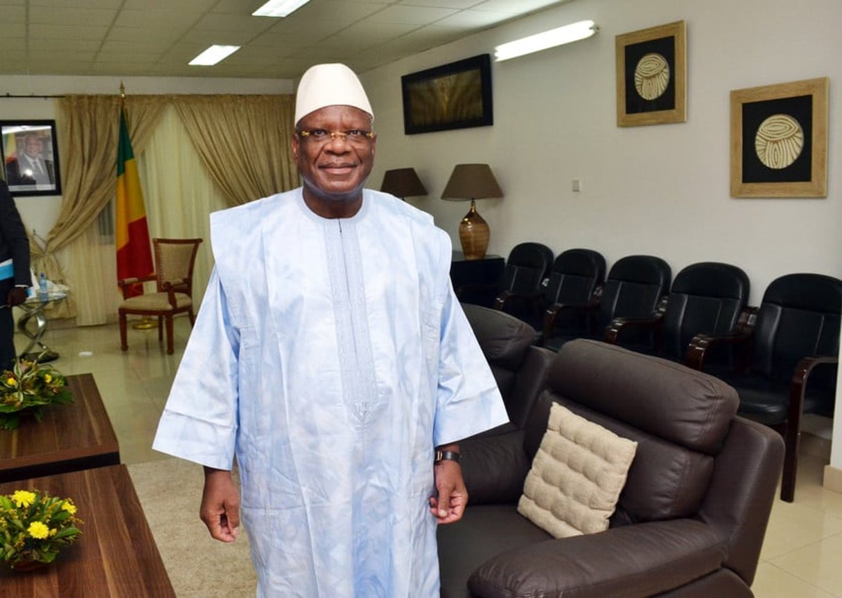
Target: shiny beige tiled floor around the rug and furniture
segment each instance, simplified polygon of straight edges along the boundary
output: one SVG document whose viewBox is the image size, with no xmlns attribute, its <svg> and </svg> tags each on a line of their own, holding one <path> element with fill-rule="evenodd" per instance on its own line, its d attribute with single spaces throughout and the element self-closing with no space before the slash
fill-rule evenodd
<svg viewBox="0 0 842 598">
<path fill-rule="evenodd" d="M 189 336 L 176 321 L 174 355 L 158 344 L 157 330 L 130 327 L 129 351 L 120 351 L 116 325 L 48 330 L 45 342 L 61 357 L 63 373 L 93 373 L 120 441 L 123 463 L 146 463 L 165 455 L 152 451 L 168 389 Z M 24 345 L 23 339 L 17 340 Z M 83 352 L 93 353 L 84 357 Z M 842 495 L 823 489 L 823 459 L 805 452 L 796 500 L 775 500 L 754 580 L 758 598 L 842 598 Z"/>
</svg>

